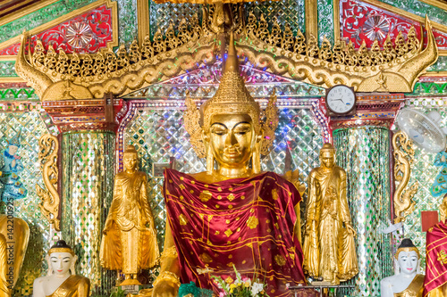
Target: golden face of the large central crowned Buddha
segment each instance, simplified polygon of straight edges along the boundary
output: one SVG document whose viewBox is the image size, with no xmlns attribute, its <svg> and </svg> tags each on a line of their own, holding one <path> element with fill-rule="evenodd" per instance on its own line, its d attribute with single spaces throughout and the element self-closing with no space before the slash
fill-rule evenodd
<svg viewBox="0 0 447 297">
<path fill-rule="evenodd" d="M 211 118 L 209 145 L 219 166 L 246 166 L 255 139 L 255 130 L 248 114 L 217 114 Z"/>
</svg>

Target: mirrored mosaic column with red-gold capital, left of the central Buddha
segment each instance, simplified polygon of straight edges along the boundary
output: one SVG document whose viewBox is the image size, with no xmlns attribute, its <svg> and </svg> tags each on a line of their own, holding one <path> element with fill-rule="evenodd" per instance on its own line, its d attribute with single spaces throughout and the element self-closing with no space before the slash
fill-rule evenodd
<svg viewBox="0 0 447 297">
<path fill-rule="evenodd" d="M 93 295 L 109 295 L 115 285 L 115 273 L 99 263 L 99 247 L 113 198 L 114 105 L 120 103 L 112 98 L 42 103 L 62 132 L 62 239 L 79 257 L 76 272 L 89 277 Z"/>
</svg>

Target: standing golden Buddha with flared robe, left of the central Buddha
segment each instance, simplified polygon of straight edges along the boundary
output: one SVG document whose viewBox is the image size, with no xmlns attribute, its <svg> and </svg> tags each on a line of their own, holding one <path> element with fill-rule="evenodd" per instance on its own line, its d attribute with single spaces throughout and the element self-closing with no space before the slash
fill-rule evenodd
<svg viewBox="0 0 447 297">
<path fill-rule="evenodd" d="M 158 243 L 148 201 L 148 177 L 137 171 L 138 153 L 129 145 L 123 153 L 124 170 L 114 178 L 114 199 L 110 207 L 99 257 L 101 266 L 122 270 L 121 285 L 140 285 L 140 269 L 156 265 Z"/>
</svg>

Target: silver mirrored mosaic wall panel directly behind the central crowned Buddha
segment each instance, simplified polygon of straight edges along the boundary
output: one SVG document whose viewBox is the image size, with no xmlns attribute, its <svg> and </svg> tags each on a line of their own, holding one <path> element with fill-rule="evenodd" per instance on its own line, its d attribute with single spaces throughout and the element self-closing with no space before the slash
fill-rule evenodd
<svg viewBox="0 0 447 297">
<path fill-rule="evenodd" d="M 158 231 L 158 243 L 164 241 L 163 177 L 154 176 L 156 163 L 175 158 L 176 169 L 195 173 L 206 170 L 205 159 L 198 159 L 189 136 L 183 128 L 183 111 L 140 109 L 124 130 L 124 144 L 133 144 L 139 151 L 140 169 L 147 172 L 149 197 Z M 299 169 L 306 181 L 311 169 L 319 166 L 318 152 L 323 145 L 322 128 L 312 111 L 280 109 L 274 147 L 263 160 L 262 169 L 283 173 L 286 148 L 291 150 L 291 169 Z M 157 166 L 157 165 L 156 165 Z"/>
</svg>

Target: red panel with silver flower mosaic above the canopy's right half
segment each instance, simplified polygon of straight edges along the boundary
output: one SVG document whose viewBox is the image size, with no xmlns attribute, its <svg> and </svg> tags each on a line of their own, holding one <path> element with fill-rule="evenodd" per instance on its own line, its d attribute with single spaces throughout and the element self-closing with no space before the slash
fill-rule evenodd
<svg viewBox="0 0 447 297">
<path fill-rule="evenodd" d="M 358 0 L 347 0 L 341 3 L 341 35 L 343 40 L 352 41 L 358 48 L 363 40 L 370 47 L 375 39 L 383 45 L 390 35 L 394 40 L 399 31 L 407 37 L 411 26 L 416 29 L 417 38 L 421 39 L 421 24 L 409 20 L 393 12 L 385 11 L 371 4 Z M 434 38 L 440 50 L 447 49 L 447 34 L 434 29 Z"/>
</svg>

